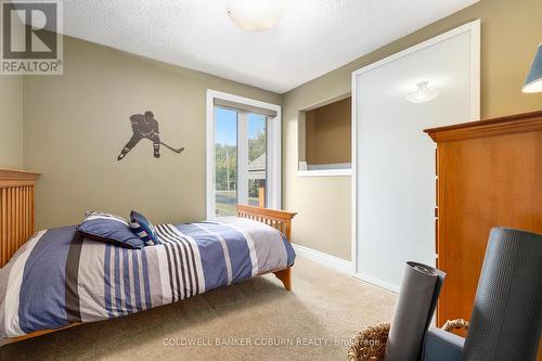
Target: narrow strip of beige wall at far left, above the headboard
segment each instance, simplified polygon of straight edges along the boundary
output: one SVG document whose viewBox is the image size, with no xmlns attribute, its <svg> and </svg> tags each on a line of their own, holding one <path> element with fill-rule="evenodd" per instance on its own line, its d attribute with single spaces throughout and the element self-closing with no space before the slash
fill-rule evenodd
<svg viewBox="0 0 542 361">
<path fill-rule="evenodd" d="M 0 75 L 0 167 L 23 166 L 23 77 Z"/>
</svg>

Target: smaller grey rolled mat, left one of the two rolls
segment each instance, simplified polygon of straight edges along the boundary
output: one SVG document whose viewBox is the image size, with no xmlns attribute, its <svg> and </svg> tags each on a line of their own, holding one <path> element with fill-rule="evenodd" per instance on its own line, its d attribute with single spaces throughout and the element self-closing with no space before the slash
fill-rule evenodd
<svg viewBox="0 0 542 361">
<path fill-rule="evenodd" d="M 389 328 L 385 361 L 417 361 L 425 332 L 433 319 L 446 273 L 436 268 L 406 262 L 399 299 Z"/>
</svg>

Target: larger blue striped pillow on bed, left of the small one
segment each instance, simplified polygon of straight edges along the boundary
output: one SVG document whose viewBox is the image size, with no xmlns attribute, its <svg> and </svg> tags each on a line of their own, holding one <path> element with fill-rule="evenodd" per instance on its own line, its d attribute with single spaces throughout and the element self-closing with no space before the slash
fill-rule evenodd
<svg viewBox="0 0 542 361">
<path fill-rule="evenodd" d="M 86 218 L 77 228 L 88 238 L 111 242 L 126 248 L 139 249 L 145 244 L 133 234 L 128 222 L 118 216 L 103 211 L 88 211 Z"/>
</svg>

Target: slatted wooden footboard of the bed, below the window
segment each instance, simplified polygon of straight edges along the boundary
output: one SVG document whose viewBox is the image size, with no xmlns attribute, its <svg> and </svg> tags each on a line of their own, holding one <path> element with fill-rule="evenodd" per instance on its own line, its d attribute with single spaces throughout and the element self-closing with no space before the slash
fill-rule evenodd
<svg viewBox="0 0 542 361">
<path fill-rule="evenodd" d="M 254 219 L 266 223 L 282 232 L 288 242 L 292 242 L 292 219 L 297 215 L 285 210 L 259 208 L 246 205 L 237 205 L 237 217 Z M 284 284 L 284 288 L 292 291 L 292 268 L 273 272 Z"/>
</svg>

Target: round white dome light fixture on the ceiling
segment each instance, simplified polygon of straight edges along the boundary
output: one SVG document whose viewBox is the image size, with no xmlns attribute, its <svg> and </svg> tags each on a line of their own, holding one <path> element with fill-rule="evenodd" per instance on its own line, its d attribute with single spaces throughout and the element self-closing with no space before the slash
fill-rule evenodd
<svg viewBox="0 0 542 361">
<path fill-rule="evenodd" d="M 281 20 L 283 0 L 228 0 L 228 15 L 248 31 L 263 31 Z"/>
</svg>

